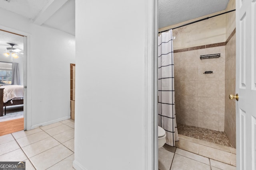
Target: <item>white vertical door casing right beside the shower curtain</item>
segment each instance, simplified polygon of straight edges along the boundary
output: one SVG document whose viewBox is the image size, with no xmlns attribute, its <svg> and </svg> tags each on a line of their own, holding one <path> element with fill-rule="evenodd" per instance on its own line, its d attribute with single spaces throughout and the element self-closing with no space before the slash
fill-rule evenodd
<svg viewBox="0 0 256 170">
<path fill-rule="evenodd" d="M 158 0 L 146 1 L 144 170 L 158 170 Z"/>
</svg>

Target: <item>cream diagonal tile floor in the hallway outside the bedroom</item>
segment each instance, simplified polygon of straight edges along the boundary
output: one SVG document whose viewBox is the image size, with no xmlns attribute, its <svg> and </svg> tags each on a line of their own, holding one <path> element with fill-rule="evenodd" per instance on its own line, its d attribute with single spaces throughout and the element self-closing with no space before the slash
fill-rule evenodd
<svg viewBox="0 0 256 170">
<path fill-rule="evenodd" d="M 74 170 L 74 121 L 0 136 L 0 161 L 25 161 L 26 170 Z"/>
</svg>

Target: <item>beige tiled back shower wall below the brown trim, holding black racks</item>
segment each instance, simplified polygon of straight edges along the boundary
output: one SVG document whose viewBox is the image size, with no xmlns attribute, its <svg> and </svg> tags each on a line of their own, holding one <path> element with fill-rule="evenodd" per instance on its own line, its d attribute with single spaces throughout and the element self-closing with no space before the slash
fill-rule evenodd
<svg viewBox="0 0 256 170">
<path fill-rule="evenodd" d="M 224 131 L 225 46 L 174 53 L 174 63 L 177 123 Z"/>
</svg>

